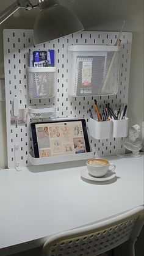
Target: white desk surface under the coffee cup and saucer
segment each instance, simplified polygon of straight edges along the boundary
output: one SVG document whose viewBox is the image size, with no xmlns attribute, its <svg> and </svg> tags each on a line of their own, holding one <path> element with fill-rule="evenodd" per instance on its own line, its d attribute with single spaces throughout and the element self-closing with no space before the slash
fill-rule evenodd
<svg viewBox="0 0 144 256">
<path fill-rule="evenodd" d="M 0 170 L 0 255 L 43 245 L 48 235 L 143 205 L 143 155 L 107 159 L 117 166 L 117 180 L 103 184 L 82 180 L 85 166 L 72 167 L 72 162 L 59 170 L 60 164 L 55 170 L 54 165 Z"/>
</svg>

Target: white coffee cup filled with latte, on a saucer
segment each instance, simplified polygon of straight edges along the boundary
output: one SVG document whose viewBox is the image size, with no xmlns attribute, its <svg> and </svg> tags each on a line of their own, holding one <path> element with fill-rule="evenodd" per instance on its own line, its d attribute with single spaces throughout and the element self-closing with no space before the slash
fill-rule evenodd
<svg viewBox="0 0 144 256">
<path fill-rule="evenodd" d="M 113 166 L 113 168 L 111 169 L 109 166 Z M 94 177 L 103 177 L 107 172 L 113 172 L 115 168 L 115 164 L 104 158 L 92 158 L 87 161 L 87 170 Z"/>
</svg>

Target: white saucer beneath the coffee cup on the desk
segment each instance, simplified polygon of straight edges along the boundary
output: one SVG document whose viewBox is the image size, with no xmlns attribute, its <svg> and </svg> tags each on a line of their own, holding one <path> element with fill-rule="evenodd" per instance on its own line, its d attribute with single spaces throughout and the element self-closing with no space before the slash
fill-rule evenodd
<svg viewBox="0 0 144 256">
<path fill-rule="evenodd" d="M 115 172 L 107 172 L 106 175 L 103 177 L 93 177 L 87 170 L 87 167 L 84 170 L 81 170 L 80 172 L 81 177 L 87 179 L 87 180 L 93 180 L 93 181 L 107 181 L 107 180 L 112 180 L 116 176 Z"/>
</svg>

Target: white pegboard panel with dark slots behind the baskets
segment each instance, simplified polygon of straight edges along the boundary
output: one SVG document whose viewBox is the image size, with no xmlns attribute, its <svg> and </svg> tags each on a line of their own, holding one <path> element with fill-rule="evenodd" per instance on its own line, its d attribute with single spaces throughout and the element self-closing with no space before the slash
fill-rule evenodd
<svg viewBox="0 0 144 256">
<path fill-rule="evenodd" d="M 94 98 L 100 108 L 107 102 L 115 109 L 128 102 L 129 68 L 131 59 L 132 34 L 123 32 L 121 35 L 120 79 L 117 95 L 99 97 L 68 96 L 68 54 L 67 46 L 72 44 L 115 45 L 119 32 L 78 32 L 34 47 L 33 31 L 19 29 L 4 30 L 4 65 L 5 65 L 5 100 L 7 115 L 7 155 L 8 167 L 15 167 L 15 144 L 20 147 L 21 167 L 29 165 L 27 154 L 31 150 L 31 134 L 29 130 L 29 115 L 26 125 L 10 125 L 10 111 L 13 98 L 18 97 L 19 107 L 28 109 L 34 104 L 53 104 L 56 106 L 56 117 L 84 117 L 88 120 L 88 109 L 92 108 Z M 56 97 L 34 100 L 27 93 L 27 65 L 29 49 L 54 49 L 56 73 Z M 116 155 L 124 153 L 121 139 L 90 139 L 96 156 Z M 119 152 L 120 151 L 120 152 Z"/>
</svg>

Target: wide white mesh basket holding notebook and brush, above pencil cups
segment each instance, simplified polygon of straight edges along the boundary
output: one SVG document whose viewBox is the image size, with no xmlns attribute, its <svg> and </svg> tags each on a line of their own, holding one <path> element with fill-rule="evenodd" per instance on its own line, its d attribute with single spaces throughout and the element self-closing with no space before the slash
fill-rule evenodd
<svg viewBox="0 0 144 256">
<path fill-rule="evenodd" d="M 68 94 L 72 97 L 118 92 L 120 46 L 68 46 Z"/>
</svg>

